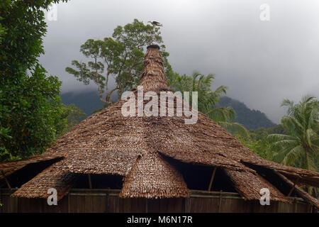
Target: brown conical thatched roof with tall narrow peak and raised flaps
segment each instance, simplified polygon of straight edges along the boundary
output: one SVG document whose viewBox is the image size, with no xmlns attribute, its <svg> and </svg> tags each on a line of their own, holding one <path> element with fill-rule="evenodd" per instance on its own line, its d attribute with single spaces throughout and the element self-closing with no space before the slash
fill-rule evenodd
<svg viewBox="0 0 319 227">
<path fill-rule="evenodd" d="M 157 45 L 147 48 L 140 85 L 144 92 L 169 91 Z M 137 89 L 133 92 L 138 93 Z M 89 116 L 60 137 L 45 155 L 65 158 L 23 184 L 13 196 L 46 197 L 47 189 L 57 187 L 61 198 L 78 173 L 123 176 L 122 197 L 189 196 L 183 176 L 166 157 L 220 168 L 245 199 L 259 199 L 260 189 L 267 187 L 272 200 L 288 201 L 259 175 L 258 168 L 283 176 L 287 184 L 299 179 L 298 184 L 319 187 L 318 172 L 264 160 L 204 114 L 198 113 L 195 124 L 185 124 L 184 116 L 125 117 L 121 114 L 125 102 L 120 100 Z M 306 192 L 300 195 L 319 206 Z"/>
</svg>

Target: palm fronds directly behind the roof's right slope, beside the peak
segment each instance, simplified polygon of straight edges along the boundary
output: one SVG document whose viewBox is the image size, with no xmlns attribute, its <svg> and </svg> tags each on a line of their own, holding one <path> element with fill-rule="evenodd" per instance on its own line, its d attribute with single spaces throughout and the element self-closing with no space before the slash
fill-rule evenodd
<svg viewBox="0 0 319 227">
<path fill-rule="evenodd" d="M 192 76 L 177 73 L 170 74 L 168 78 L 169 87 L 175 92 L 190 92 L 189 101 L 191 102 L 191 92 L 198 92 L 198 111 L 206 114 L 213 121 L 231 133 L 248 136 L 247 129 L 240 123 L 234 123 L 235 111 L 230 107 L 216 107 L 221 96 L 226 94 L 227 87 L 220 86 L 215 91 L 211 90 L 211 84 L 215 75 L 207 76 L 200 72 L 193 72 Z M 191 103 L 190 103 L 191 104 Z"/>
</svg>

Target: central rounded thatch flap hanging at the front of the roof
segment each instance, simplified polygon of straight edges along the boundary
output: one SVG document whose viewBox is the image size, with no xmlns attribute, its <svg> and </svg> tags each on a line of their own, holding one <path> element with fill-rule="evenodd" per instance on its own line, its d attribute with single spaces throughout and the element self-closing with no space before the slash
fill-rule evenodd
<svg viewBox="0 0 319 227">
<path fill-rule="evenodd" d="M 124 178 L 120 196 L 123 198 L 189 197 L 181 174 L 158 153 L 142 155 Z"/>
</svg>

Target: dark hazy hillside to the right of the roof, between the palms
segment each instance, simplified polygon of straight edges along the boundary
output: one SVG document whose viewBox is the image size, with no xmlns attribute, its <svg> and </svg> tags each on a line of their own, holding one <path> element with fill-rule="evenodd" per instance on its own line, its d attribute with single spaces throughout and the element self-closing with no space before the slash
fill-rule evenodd
<svg viewBox="0 0 319 227">
<path fill-rule="evenodd" d="M 228 96 L 222 97 L 218 106 L 232 107 L 237 114 L 235 121 L 241 123 L 247 129 L 257 129 L 259 127 L 271 128 L 276 125 L 261 111 L 251 110 L 244 103 L 231 99 Z"/>
</svg>

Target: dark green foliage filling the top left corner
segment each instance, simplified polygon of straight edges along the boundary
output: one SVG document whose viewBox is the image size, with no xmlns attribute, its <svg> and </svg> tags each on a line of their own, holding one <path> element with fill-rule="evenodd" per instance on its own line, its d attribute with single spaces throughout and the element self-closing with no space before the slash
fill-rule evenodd
<svg viewBox="0 0 319 227">
<path fill-rule="evenodd" d="M 30 70 L 44 53 L 45 13 L 50 4 L 60 0 L 1 0 L 0 72 L 11 77 Z M 63 0 L 61 0 L 63 1 Z M 4 32 L 5 31 L 5 32 Z"/>
</svg>

